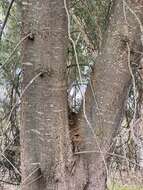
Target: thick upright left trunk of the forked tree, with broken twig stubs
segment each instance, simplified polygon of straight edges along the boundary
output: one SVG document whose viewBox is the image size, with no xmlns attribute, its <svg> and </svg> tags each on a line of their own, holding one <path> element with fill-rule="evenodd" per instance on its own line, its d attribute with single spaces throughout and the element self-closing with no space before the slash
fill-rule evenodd
<svg viewBox="0 0 143 190">
<path fill-rule="evenodd" d="M 70 165 L 72 152 L 67 114 L 64 1 L 23 1 L 22 22 L 23 37 L 31 33 L 22 50 L 23 190 L 67 190 L 65 168 Z"/>
</svg>

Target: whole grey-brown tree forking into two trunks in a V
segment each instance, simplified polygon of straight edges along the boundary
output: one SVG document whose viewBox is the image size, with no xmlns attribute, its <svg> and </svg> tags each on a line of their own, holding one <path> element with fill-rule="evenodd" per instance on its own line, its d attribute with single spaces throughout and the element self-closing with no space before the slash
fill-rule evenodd
<svg viewBox="0 0 143 190">
<path fill-rule="evenodd" d="M 23 1 L 24 190 L 106 187 L 107 158 L 122 119 L 130 61 L 136 56 L 133 45 L 142 32 L 142 2 L 113 2 L 83 110 L 75 115 L 67 105 L 65 1 Z"/>
</svg>

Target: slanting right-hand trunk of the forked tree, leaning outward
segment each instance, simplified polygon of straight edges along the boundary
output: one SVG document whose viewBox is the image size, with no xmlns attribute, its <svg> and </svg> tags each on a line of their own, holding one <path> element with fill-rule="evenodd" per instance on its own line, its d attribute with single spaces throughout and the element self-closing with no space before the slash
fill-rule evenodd
<svg viewBox="0 0 143 190">
<path fill-rule="evenodd" d="M 141 34 L 136 16 L 139 19 L 143 16 L 142 2 L 126 3 L 123 6 L 123 1 L 115 1 L 103 48 L 86 94 L 85 107 L 83 105 L 83 112 L 76 123 L 82 137 L 76 155 L 87 163 L 86 190 L 106 189 L 107 151 L 110 151 L 121 124 L 131 79 L 128 46 L 132 50 L 133 41 Z"/>
</svg>

